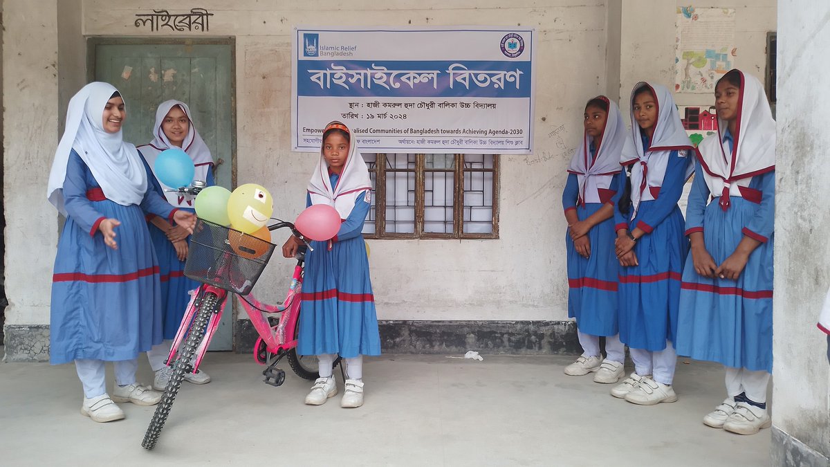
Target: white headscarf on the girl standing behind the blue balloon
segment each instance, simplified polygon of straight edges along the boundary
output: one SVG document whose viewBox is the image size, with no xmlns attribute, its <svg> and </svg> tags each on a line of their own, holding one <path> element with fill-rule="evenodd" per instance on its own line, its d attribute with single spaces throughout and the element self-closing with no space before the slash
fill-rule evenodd
<svg viewBox="0 0 830 467">
<path fill-rule="evenodd" d="M 193 179 L 205 181 L 207 180 L 207 170 L 210 170 L 213 165 L 213 158 L 210 154 L 210 150 L 207 149 L 207 145 L 202 139 L 202 136 L 199 135 L 198 130 L 196 130 L 196 127 L 193 125 L 193 117 L 190 115 L 190 108 L 182 101 L 175 101 L 171 99 L 170 101 L 164 101 L 159 105 L 159 108 L 156 110 L 155 125 L 153 126 L 153 140 L 150 141 L 148 145 L 140 145 L 139 150 L 141 151 L 141 154 L 144 155 L 144 159 L 147 160 L 147 164 L 150 166 L 150 169 L 153 170 L 153 175 L 155 175 L 155 160 L 159 157 L 161 151 L 178 147 L 170 143 L 170 140 L 161 128 L 161 125 L 164 123 L 164 117 L 166 117 L 168 112 L 173 109 L 173 106 L 181 107 L 184 115 L 188 116 L 188 135 L 185 136 L 182 141 L 182 150 L 184 150 L 184 152 L 190 156 L 190 159 L 193 160 L 193 165 L 196 168 L 196 173 L 193 175 Z M 159 181 L 162 189 L 171 189 L 171 187 L 163 184 L 161 180 L 159 180 L 158 176 L 156 179 Z M 183 208 L 193 207 L 193 196 L 181 196 L 178 193 L 164 192 L 164 197 L 167 198 L 168 203 L 173 206 Z"/>
</svg>

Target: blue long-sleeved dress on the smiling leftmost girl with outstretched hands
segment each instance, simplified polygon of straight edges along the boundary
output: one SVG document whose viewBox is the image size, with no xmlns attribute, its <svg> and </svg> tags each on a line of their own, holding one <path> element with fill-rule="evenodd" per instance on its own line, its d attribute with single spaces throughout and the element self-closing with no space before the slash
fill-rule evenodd
<svg viewBox="0 0 830 467">
<path fill-rule="evenodd" d="M 146 164 L 144 170 L 153 176 Z M 169 219 L 174 209 L 149 190 L 140 206 L 106 199 L 75 150 L 63 197 L 68 216 L 52 276 L 50 361 L 132 360 L 162 340 L 159 263 L 144 214 Z M 110 218 L 121 223 L 116 250 L 98 231 Z"/>
</svg>

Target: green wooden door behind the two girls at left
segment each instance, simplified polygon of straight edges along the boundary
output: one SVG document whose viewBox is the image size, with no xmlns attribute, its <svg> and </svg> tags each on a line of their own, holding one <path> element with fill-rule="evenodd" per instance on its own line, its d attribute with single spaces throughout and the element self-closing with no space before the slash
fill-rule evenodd
<svg viewBox="0 0 830 467">
<path fill-rule="evenodd" d="M 95 81 L 106 81 L 124 96 L 125 140 L 153 139 L 155 111 L 176 99 L 188 104 L 193 125 L 217 163 L 217 184 L 232 189 L 235 151 L 232 44 L 140 44 L 117 40 L 93 46 Z M 210 350 L 232 350 L 232 310 L 227 308 Z"/>
</svg>

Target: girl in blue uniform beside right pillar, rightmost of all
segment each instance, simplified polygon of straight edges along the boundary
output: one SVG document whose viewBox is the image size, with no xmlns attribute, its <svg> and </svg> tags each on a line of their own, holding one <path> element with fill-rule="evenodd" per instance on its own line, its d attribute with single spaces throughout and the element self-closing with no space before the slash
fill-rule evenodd
<svg viewBox="0 0 830 467">
<path fill-rule="evenodd" d="M 775 120 L 764 86 L 732 70 L 715 86 L 718 132 L 697 148 L 677 351 L 726 367 L 726 399 L 703 423 L 741 435 L 770 425 Z"/>
</svg>

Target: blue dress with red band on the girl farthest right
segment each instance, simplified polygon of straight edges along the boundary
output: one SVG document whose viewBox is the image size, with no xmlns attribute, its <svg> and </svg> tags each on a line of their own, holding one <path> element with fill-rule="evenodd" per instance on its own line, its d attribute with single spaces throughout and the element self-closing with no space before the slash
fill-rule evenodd
<svg viewBox="0 0 830 467">
<path fill-rule="evenodd" d="M 729 133 L 725 140 L 730 143 Z M 743 197 L 730 196 L 730 207 L 710 192 L 698 165 L 686 208 L 686 233 L 703 232 L 706 251 L 720 265 L 744 236 L 762 242 L 749 254 L 738 280 L 705 278 L 696 273 L 691 254 L 683 270 L 678 355 L 718 361 L 725 366 L 772 372 L 773 233 L 775 172 L 756 175 Z"/>
</svg>

